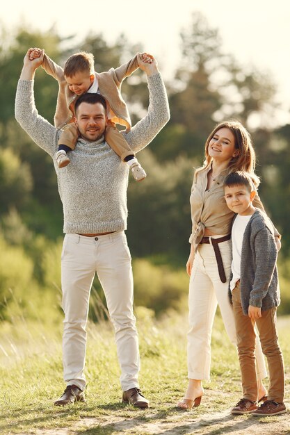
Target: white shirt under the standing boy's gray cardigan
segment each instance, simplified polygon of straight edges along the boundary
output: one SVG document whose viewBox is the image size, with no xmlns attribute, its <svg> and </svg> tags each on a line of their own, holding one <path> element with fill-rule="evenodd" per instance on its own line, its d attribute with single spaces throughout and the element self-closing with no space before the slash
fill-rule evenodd
<svg viewBox="0 0 290 435">
<path fill-rule="evenodd" d="M 236 281 L 241 278 L 241 250 L 243 245 L 243 234 L 245 233 L 245 227 L 252 215 L 237 215 L 232 226 L 232 280 L 229 284 L 229 288 L 234 290 Z"/>
</svg>

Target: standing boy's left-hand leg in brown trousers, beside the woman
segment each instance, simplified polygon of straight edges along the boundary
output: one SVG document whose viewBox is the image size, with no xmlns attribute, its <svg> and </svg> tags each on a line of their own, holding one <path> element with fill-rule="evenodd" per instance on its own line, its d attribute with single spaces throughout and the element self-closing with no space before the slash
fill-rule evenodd
<svg viewBox="0 0 290 435">
<path fill-rule="evenodd" d="M 241 306 L 241 292 L 239 284 L 232 291 L 234 322 L 236 325 L 236 341 L 239 352 L 243 398 L 257 402 L 258 387 L 255 366 L 254 325 L 248 315 L 244 315 Z"/>
</svg>

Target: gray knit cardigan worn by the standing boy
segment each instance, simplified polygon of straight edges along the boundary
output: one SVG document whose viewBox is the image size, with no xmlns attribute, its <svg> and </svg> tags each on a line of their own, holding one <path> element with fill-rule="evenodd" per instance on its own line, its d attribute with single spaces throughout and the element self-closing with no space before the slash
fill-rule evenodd
<svg viewBox="0 0 290 435">
<path fill-rule="evenodd" d="M 229 281 L 231 279 L 232 274 Z M 261 311 L 266 311 L 280 304 L 273 224 L 266 214 L 258 209 L 250 218 L 243 235 L 240 288 L 245 315 L 248 315 L 249 305 L 258 306 Z M 232 299 L 230 289 L 229 297 Z"/>
</svg>

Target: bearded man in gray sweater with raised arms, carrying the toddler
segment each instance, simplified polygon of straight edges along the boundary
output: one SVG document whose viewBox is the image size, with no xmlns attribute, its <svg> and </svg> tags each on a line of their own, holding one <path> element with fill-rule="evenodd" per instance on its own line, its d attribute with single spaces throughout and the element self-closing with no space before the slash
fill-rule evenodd
<svg viewBox="0 0 290 435">
<path fill-rule="evenodd" d="M 43 53 L 40 58 L 30 60 L 29 52 L 24 57 L 17 86 L 15 117 L 34 142 L 54 158 L 60 131 L 38 115 L 33 95 L 35 70 L 42 63 Z M 138 63 L 147 74 L 150 105 L 147 115 L 131 131 L 122 132 L 134 152 L 148 145 L 170 117 L 156 60 L 145 63 L 139 56 Z M 149 401 L 138 385 L 140 362 L 133 313 L 133 277 L 124 233 L 128 165 L 104 141 L 106 103 L 101 96 L 79 97 L 74 122 L 80 138 L 71 163 L 65 170 L 59 170 L 54 163 L 64 215 L 61 284 L 65 313 L 63 373 L 67 384 L 55 404 L 63 406 L 84 400 L 88 302 L 97 272 L 115 328 L 122 401 L 147 408 Z"/>
</svg>

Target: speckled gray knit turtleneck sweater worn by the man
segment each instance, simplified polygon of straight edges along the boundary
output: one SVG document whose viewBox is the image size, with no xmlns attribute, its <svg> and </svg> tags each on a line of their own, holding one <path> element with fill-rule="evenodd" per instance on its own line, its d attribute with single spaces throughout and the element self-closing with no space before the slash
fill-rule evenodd
<svg viewBox="0 0 290 435">
<path fill-rule="evenodd" d="M 131 149 L 140 151 L 168 122 L 170 113 L 161 74 L 147 77 L 150 104 L 147 115 L 128 133 L 122 132 Z M 15 118 L 33 141 L 51 158 L 58 147 L 58 131 L 38 115 L 34 81 L 19 80 Z M 70 165 L 54 167 L 63 203 L 64 233 L 104 233 L 127 229 L 129 166 L 104 142 L 79 139 L 70 153 Z"/>
</svg>

